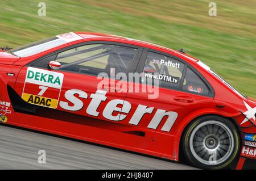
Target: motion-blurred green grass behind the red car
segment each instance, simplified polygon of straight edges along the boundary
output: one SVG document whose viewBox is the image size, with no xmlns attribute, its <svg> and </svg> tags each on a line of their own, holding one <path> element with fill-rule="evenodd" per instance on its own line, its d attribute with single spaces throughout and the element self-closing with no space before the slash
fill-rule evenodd
<svg viewBox="0 0 256 181">
<path fill-rule="evenodd" d="M 3 0 L 0 45 L 16 47 L 64 32 L 106 32 L 184 48 L 248 96 L 256 98 L 256 1 Z"/>
</svg>

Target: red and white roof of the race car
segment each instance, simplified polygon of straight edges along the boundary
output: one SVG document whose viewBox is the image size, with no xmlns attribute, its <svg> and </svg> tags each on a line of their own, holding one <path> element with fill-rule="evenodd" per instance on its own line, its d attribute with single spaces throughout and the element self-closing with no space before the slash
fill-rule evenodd
<svg viewBox="0 0 256 181">
<path fill-rule="evenodd" d="M 161 49 L 161 50 L 166 50 L 168 52 L 172 52 L 175 54 L 178 54 L 179 56 L 190 60 L 192 62 L 198 62 L 199 60 L 197 60 L 196 58 L 189 56 L 188 54 L 179 52 L 177 50 L 174 49 L 170 49 L 170 48 L 166 48 L 160 45 L 156 45 L 153 43 L 148 43 L 146 41 L 141 41 L 141 40 L 136 40 L 136 39 L 131 39 L 129 37 L 123 37 L 123 36 L 117 36 L 117 35 L 111 35 L 108 33 L 96 33 L 96 32 L 75 32 L 77 35 L 81 36 L 84 39 L 92 39 L 92 38 L 96 38 L 96 39 L 114 39 L 114 40 L 120 40 L 120 41 L 125 41 L 128 44 L 140 44 L 142 47 L 151 47 L 152 49 Z"/>
</svg>

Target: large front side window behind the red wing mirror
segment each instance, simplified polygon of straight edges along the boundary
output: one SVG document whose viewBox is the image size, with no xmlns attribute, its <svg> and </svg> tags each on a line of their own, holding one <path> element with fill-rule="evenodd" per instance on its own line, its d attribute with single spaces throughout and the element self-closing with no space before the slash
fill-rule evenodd
<svg viewBox="0 0 256 181">
<path fill-rule="evenodd" d="M 59 70 L 67 70 L 75 73 L 98 75 L 99 73 L 119 72 L 126 73 L 133 61 L 137 49 L 109 44 L 92 44 L 73 48 L 61 52 L 55 56 L 44 58 L 32 64 L 48 68 L 48 62 L 56 60 L 60 62 Z"/>
</svg>

